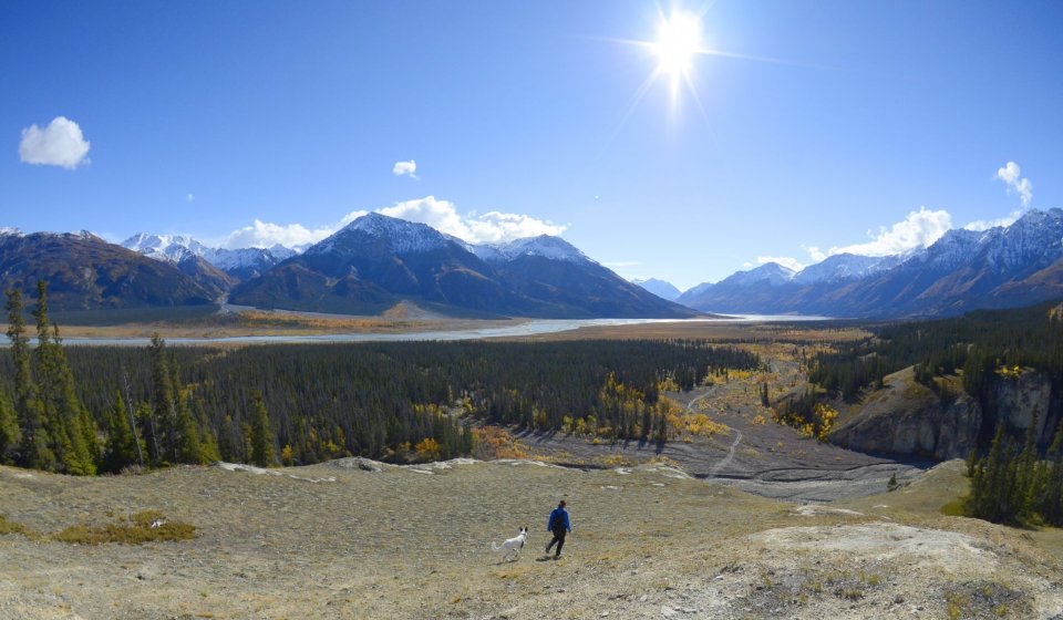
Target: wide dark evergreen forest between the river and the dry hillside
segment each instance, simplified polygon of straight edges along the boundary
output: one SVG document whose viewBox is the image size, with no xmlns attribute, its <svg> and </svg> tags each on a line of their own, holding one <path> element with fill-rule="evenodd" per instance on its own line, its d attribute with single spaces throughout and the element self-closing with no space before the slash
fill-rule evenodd
<svg viewBox="0 0 1063 620">
<path fill-rule="evenodd" d="M 69 474 L 450 458 L 473 451 L 473 422 L 662 441 L 662 386 L 760 365 L 685 340 L 63 347 L 43 285 L 32 345 L 19 291 L 7 310 L 0 461 Z"/>
</svg>

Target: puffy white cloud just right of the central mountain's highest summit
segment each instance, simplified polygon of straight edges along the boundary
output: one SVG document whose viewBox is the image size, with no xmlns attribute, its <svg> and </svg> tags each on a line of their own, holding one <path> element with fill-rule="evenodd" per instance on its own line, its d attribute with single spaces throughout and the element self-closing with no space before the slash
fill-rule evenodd
<svg viewBox="0 0 1063 620">
<path fill-rule="evenodd" d="M 489 211 L 483 215 L 461 215 L 453 203 L 435 196 L 396 203 L 391 207 L 376 209 L 376 213 L 427 224 L 441 232 L 471 244 L 498 244 L 538 235 L 560 235 L 566 228 L 520 214 Z"/>
</svg>

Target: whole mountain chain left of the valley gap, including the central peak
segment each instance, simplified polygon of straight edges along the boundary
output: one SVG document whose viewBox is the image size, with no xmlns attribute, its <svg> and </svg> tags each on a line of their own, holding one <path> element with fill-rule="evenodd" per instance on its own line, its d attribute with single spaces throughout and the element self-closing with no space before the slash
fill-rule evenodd
<svg viewBox="0 0 1063 620">
<path fill-rule="evenodd" d="M 218 249 L 189 237 L 0 229 L 0 285 L 49 282 L 56 310 L 172 307 L 227 298 L 258 308 L 375 314 L 410 301 L 450 316 L 689 318 L 549 236 L 471 245 L 424 224 L 363 216 L 306 248 Z"/>
</svg>

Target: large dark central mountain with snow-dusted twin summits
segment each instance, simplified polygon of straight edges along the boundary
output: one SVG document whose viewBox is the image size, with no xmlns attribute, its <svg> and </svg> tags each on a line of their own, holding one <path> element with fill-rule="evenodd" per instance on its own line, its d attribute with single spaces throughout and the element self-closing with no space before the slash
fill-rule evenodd
<svg viewBox="0 0 1063 620">
<path fill-rule="evenodd" d="M 525 317 L 689 317 L 556 237 L 473 246 L 369 214 L 236 287 L 235 303 L 376 313 L 400 301 L 446 312 Z"/>
</svg>

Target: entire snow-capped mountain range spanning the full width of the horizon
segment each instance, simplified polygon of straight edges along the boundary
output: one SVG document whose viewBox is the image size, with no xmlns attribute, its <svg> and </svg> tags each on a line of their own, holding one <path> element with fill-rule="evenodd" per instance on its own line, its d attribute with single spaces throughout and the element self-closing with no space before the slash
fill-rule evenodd
<svg viewBox="0 0 1063 620">
<path fill-rule="evenodd" d="M 210 248 L 140 234 L 0 228 L 0 286 L 48 280 L 55 309 L 196 306 L 375 314 L 410 301 L 451 316 L 687 318 L 699 312 L 834 317 L 956 314 L 1063 297 L 1063 210 L 1010 226 L 950 230 L 904 255 L 830 256 L 801 271 L 770 262 L 682 294 L 628 282 L 550 236 L 474 245 L 424 224 L 363 216 L 305 248 Z M 673 303 L 671 299 L 678 301 Z"/>
</svg>

